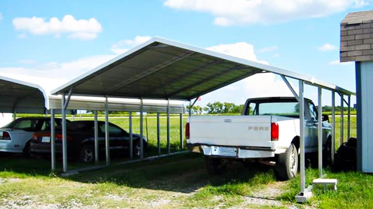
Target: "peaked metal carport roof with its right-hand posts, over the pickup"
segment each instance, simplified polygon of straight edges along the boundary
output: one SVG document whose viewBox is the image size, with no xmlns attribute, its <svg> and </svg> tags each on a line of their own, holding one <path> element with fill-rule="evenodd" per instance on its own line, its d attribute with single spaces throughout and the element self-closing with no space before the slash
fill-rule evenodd
<svg viewBox="0 0 373 209">
<path fill-rule="evenodd" d="M 336 85 L 277 67 L 244 60 L 203 48 L 153 38 L 119 55 L 101 66 L 73 79 L 52 94 L 89 95 L 104 97 L 133 97 L 152 99 L 191 100 L 200 95 L 227 86 L 243 78 L 260 73 L 281 75 L 291 92 L 298 99 L 300 112 L 304 112 L 304 84 L 316 86 L 319 92 L 319 133 L 322 128 L 322 89 L 332 91 L 334 107 L 335 92 L 349 98 L 354 93 Z M 299 95 L 287 78 L 299 80 Z M 68 101 L 68 99 L 67 99 Z M 350 101 L 350 100 L 349 100 Z M 350 106 L 350 105 L 349 105 Z M 335 114 L 333 108 L 333 140 Z M 142 121 L 142 117 L 140 122 Z M 304 115 L 300 114 L 301 134 L 301 183 L 300 201 L 307 199 L 305 191 Z M 63 140 L 66 142 L 66 132 Z M 322 135 L 319 134 L 319 175 L 322 178 Z M 334 145 L 332 145 L 334 151 Z"/>
</svg>

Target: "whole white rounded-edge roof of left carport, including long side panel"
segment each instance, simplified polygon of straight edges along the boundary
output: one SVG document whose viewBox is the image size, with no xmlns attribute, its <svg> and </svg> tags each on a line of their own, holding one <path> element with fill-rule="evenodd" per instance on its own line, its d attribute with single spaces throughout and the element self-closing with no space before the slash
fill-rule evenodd
<svg viewBox="0 0 373 209">
<path fill-rule="evenodd" d="M 46 109 L 60 109 L 61 97 L 47 95 L 37 84 L 0 75 L 0 113 L 46 113 Z M 144 101 L 147 112 L 166 112 L 164 101 Z M 137 100 L 110 99 L 108 108 L 116 111 L 140 111 Z M 72 97 L 68 109 L 103 110 L 104 99 Z M 183 104 L 170 103 L 170 113 L 184 113 Z"/>
</svg>

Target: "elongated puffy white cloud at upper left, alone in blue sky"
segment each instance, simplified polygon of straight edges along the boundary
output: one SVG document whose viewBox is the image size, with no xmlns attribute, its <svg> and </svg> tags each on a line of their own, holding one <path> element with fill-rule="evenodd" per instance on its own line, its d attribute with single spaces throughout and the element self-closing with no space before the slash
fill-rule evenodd
<svg viewBox="0 0 373 209">
<path fill-rule="evenodd" d="M 59 37 L 62 33 L 69 33 L 73 39 L 90 40 L 97 37 L 102 31 L 101 24 L 95 19 L 76 20 L 72 15 L 65 15 L 60 21 L 57 17 L 46 21 L 42 17 L 16 17 L 13 19 L 16 30 L 28 31 L 34 35 L 54 34 Z"/>
</svg>

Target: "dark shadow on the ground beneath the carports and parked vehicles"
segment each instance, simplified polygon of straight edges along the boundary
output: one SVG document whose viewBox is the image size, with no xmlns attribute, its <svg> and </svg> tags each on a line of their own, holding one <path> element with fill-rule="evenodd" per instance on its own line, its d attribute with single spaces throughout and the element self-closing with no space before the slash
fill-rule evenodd
<svg viewBox="0 0 373 209">
<path fill-rule="evenodd" d="M 219 176 L 208 176 L 203 156 L 195 153 L 134 164 L 114 165 L 116 159 L 111 163 L 113 164 L 111 166 L 82 172 L 65 179 L 83 183 L 113 183 L 132 188 L 192 193 L 206 185 L 220 186 L 227 183 L 246 182 L 259 173 L 272 175 L 272 169 L 269 166 L 261 164 L 243 166 L 237 163 L 227 166 L 226 172 Z M 79 163 L 70 162 L 69 165 L 70 167 L 78 166 Z M 11 171 L 16 176 L 18 174 L 20 177 L 17 178 L 22 178 L 22 176 L 53 177 L 50 173 L 50 166 L 49 159 L 27 159 L 17 154 L 1 154 L 0 178 L 4 175 L 2 171 Z"/>
</svg>

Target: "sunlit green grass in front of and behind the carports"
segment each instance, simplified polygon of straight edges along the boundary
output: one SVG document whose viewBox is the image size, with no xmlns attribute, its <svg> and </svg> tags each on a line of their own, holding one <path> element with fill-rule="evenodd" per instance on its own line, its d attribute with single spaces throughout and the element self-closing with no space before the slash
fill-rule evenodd
<svg viewBox="0 0 373 209">
<path fill-rule="evenodd" d="M 338 138 L 339 118 L 336 119 Z M 127 129 L 126 118 L 110 121 Z M 351 136 L 355 136 L 356 118 L 351 121 Z M 156 142 L 155 124 L 155 118 L 148 118 L 148 138 L 152 144 Z M 161 124 L 164 151 L 165 118 Z M 134 118 L 134 133 L 139 133 L 138 127 L 138 119 Z M 178 117 L 171 118 L 171 147 L 179 147 Z M 210 177 L 203 157 L 198 154 L 111 165 L 65 178 L 49 169 L 49 160 L 0 156 L 0 208 L 373 208 L 372 175 L 336 173 L 328 168 L 324 171 L 327 178 L 339 180 L 338 191 L 314 187 L 314 197 L 302 205 L 294 202 L 299 177 L 276 181 L 271 167 L 261 164 L 251 164 L 249 168 L 232 164 L 224 174 Z M 314 178 L 317 169 L 308 167 L 307 184 Z"/>
</svg>

